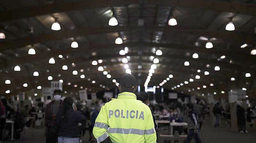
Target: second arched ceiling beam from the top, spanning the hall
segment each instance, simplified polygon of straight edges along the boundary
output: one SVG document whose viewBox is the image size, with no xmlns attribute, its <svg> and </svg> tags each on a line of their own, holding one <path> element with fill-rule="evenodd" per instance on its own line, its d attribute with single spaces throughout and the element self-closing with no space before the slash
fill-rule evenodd
<svg viewBox="0 0 256 143">
<path fill-rule="evenodd" d="M 67 39 L 67 38 L 76 37 L 76 36 L 85 36 L 85 35 L 110 33 L 110 32 L 122 32 L 122 31 L 138 31 L 140 29 L 141 29 L 140 26 L 78 27 L 72 30 L 42 33 L 40 35 L 28 36 L 28 37 L 13 40 L 13 41 L 1 42 L 0 52 L 3 52 L 4 50 L 10 50 L 10 49 L 14 50 L 14 49 L 35 44 L 35 43 L 43 43 L 46 41 Z M 247 42 L 247 43 L 256 42 L 255 35 L 248 32 L 238 32 L 238 31 L 228 32 L 224 30 L 213 31 L 213 30 L 204 30 L 204 29 L 186 29 L 186 28 L 178 28 L 178 27 L 170 27 L 170 26 L 153 26 L 153 27 L 145 26 L 144 29 L 150 30 L 150 31 L 187 33 L 187 34 L 193 34 L 193 35 L 199 35 L 199 36 L 215 37 L 215 38 L 229 40 L 232 42 L 235 41 L 239 44 L 244 42 Z"/>
</svg>

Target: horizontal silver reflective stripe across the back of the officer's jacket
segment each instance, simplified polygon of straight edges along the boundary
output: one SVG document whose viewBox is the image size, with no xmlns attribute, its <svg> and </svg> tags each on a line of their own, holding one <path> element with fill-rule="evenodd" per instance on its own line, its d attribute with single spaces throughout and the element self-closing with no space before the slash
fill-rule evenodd
<svg viewBox="0 0 256 143">
<path fill-rule="evenodd" d="M 109 133 L 144 135 L 144 130 L 139 130 L 139 129 L 108 128 L 108 132 Z"/>
</svg>

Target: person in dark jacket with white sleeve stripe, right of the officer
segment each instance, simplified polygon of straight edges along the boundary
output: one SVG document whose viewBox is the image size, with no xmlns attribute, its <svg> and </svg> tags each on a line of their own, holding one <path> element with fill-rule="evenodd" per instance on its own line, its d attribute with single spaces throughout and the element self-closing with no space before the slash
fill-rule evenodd
<svg viewBox="0 0 256 143">
<path fill-rule="evenodd" d="M 188 104 L 188 133 L 187 133 L 187 139 L 185 143 L 190 143 L 191 140 L 194 138 L 196 143 L 202 143 L 201 139 L 198 135 L 198 118 L 194 111 L 193 104 Z"/>
</svg>

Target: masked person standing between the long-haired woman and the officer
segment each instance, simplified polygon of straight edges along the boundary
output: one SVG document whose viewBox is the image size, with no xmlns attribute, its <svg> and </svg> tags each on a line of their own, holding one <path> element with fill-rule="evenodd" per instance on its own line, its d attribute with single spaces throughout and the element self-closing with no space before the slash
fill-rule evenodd
<svg viewBox="0 0 256 143">
<path fill-rule="evenodd" d="M 89 110 L 88 110 L 86 104 L 87 104 L 86 100 L 82 100 L 81 108 L 80 108 L 78 111 L 80 111 L 80 112 L 86 117 L 86 119 L 89 120 L 89 119 L 90 119 L 90 113 L 89 113 Z M 81 134 L 82 134 L 81 139 L 82 139 L 82 138 L 84 137 L 84 135 L 85 135 L 85 131 L 86 131 L 86 120 L 83 122 L 82 125 L 83 125 L 83 126 L 81 127 Z M 81 139 L 80 139 L 80 142 L 82 142 Z"/>
</svg>

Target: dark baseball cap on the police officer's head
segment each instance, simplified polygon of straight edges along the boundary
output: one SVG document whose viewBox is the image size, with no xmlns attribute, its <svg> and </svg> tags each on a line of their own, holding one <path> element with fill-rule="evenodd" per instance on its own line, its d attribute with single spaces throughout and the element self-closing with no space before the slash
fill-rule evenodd
<svg viewBox="0 0 256 143">
<path fill-rule="evenodd" d="M 126 88 L 135 88 L 136 82 L 137 81 L 134 75 L 125 74 L 121 77 L 120 86 Z"/>
</svg>

